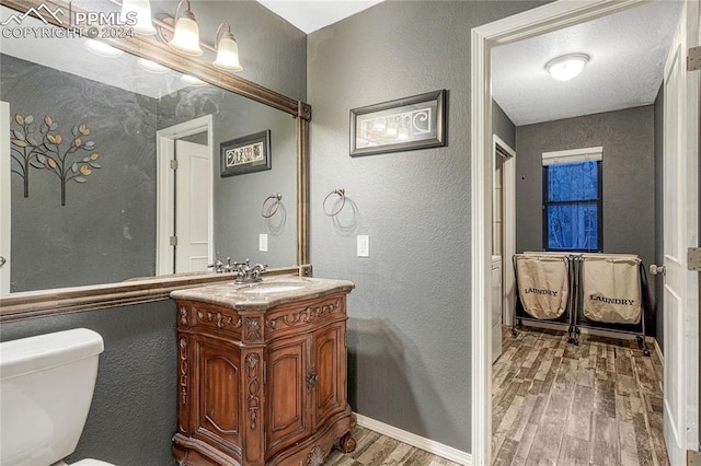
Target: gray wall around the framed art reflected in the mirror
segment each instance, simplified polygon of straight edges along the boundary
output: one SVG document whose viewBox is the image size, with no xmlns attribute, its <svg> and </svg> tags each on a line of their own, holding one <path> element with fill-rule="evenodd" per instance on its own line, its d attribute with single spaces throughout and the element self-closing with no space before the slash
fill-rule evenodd
<svg viewBox="0 0 701 466">
<path fill-rule="evenodd" d="M 161 97 L 159 129 L 204 115 L 214 118 L 214 236 L 221 260 L 250 258 L 252 264 L 297 264 L 297 137 L 295 119 L 280 110 L 214 86 L 191 88 Z M 271 130 L 269 171 L 221 177 L 219 144 Z M 283 195 L 278 211 L 261 215 L 268 196 Z M 268 235 L 268 252 L 258 252 L 258 235 Z"/>
</svg>

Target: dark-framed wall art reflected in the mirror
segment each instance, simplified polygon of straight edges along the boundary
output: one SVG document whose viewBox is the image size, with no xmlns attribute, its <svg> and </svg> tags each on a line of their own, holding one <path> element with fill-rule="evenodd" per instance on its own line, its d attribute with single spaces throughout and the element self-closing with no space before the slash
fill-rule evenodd
<svg viewBox="0 0 701 466">
<path fill-rule="evenodd" d="M 243 136 L 219 144 L 221 176 L 271 170 L 271 130 Z"/>
</svg>

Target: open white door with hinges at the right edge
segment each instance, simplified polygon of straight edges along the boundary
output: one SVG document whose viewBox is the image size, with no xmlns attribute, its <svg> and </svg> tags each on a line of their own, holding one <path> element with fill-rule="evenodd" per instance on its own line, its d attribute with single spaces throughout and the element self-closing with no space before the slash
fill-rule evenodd
<svg viewBox="0 0 701 466">
<path fill-rule="evenodd" d="M 698 442 L 698 277 L 687 271 L 687 247 L 698 246 L 699 72 L 686 56 L 698 44 L 698 0 L 685 2 L 665 65 L 664 333 L 665 441 L 673 465 L 686 464 Z"/>
</svg>

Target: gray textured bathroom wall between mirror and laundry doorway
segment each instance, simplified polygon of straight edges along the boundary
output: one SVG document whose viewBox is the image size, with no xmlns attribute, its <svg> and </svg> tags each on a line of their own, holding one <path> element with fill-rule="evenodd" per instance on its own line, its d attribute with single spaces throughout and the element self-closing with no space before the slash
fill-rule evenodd
<svg viewBox="0 0 701 466">
<path fill-rule="evenodd" d="M 353 280 L 361 415 L 470 452 L 470 30 L 526 1 L 386 1 L 309 36 L 311 259 Z M 348 112 L 447 89 L 448 147 L 348 156 Z M 324 197 L 345 188 L 331 219 Z M 370 257 L 356 257 L 356 235 Z"/>
</svg>

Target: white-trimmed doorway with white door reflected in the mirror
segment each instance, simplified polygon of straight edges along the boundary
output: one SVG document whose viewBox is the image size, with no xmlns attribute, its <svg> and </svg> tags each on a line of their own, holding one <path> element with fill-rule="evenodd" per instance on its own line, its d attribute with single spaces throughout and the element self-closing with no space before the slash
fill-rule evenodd
<svg viewBox="0 0 701 466">
<path fill-rule="evenodd" d="M 156 275 L 206 271 L 214 257 L 212 117 L 157 132 Z"/>
</svg>

